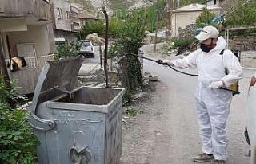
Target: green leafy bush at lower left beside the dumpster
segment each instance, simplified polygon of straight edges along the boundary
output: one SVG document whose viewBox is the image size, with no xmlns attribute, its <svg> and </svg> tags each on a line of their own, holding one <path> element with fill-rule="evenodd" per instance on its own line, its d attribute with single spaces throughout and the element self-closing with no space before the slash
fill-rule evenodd
<svg viewBox="0 0 256 164">
<path fill-rule="evenodd" d="M 11 92 L 14 92 L 11 89 Z M 0 163 L 37 163 L 38 140 L 27 122 L 28 112 L 11 108 L 6 99 L 13 95 L 0 77 Z"/>
</svg>

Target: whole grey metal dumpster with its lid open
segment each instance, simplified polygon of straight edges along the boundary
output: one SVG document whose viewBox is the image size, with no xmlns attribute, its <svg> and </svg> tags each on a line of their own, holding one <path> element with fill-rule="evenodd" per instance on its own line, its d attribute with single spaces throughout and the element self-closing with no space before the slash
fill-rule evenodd
<svg viewBox="0 0 256 164">
<path fill-rule="evenodd" d="M 122 149 L 124 89 L 74 88 L 83 58 L 46 64 L 38 78 L 30 125 L 39 164 L 114 164 Z"/>
</svg>

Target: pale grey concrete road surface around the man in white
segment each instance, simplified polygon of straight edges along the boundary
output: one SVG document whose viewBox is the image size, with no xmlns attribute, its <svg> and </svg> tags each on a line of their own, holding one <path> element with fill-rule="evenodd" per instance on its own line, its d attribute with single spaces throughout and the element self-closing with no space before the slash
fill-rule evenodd
<svg viewBox="0 0 256 164">
<path fill-rule="evenodd" d="M 154 140 L 150 158 L 146 161 L 149 163 L 194 163 L 191 158 L 201 153 L 194 105 L 197 77 L 179 74 L 150 61 L 144 62 L 144 68 L 146 72 L 158 75 L 162 84 L 160 83 L 160 88 L 158 88 L 161 93 L 156 95 L 161 96 L 162 99 L 155 98 L 158 99 L 155 105 L 164 107 L 166 112 L 166 119 L 158 122 L 161 124 L 158 128 L 162 131 L 159 132 L 162 137 Z M 229 164 L 250 163 L 250 158 L 246 156 L 249 146 L 243 137 L 243 131 L 246 125 L 246 92 L 250 76 L 254 74 L 254 71 L 244 70 L 244 72 L 245 78 L 240 82 L 242 93 L 234 96 L 227 123 L 229 158 L 226 163 Z"/>
</svg>

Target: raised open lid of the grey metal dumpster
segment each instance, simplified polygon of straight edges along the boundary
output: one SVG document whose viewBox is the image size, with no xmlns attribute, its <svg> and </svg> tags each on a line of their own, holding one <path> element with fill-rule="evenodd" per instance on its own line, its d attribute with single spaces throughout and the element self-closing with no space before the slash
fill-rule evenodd
<svg viewBox="0 0 256 164">
<path fill-rule="evenodd" d="M 47 61 L 38 76 L 34 89 L 31 111 L 36 114 L 39 103 L 53 99 L 74 89 L 83 57 L 72 57 L 60 61 Z"/>
</svg>

